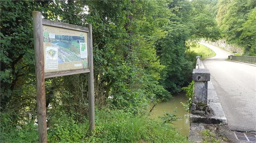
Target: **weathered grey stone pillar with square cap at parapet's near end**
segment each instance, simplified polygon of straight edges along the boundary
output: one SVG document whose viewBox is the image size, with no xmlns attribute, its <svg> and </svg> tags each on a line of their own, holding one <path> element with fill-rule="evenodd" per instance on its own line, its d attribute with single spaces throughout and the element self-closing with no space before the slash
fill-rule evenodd
<svg viewBox="0 0 256 143">
<path fill-rule="evenodd" d="M 210 72 L 208 69 L 194 68 L 192 79 L 195 81 L 195 86 L 191 113 L 208 115 L 210 114 L 210 109 L 207 106 L 207 86 L 208 81 L 210 81 Z"/>
</svg>

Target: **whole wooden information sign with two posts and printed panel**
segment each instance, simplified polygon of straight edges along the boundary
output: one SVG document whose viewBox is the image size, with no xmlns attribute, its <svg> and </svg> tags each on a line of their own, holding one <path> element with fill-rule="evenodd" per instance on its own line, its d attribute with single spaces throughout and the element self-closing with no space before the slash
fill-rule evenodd
<svg viewBox="0 0 256 143">
<path fill-rule="evenodd" d="M 92 25 L 55 22 L 33 12 L 39 142 L 47 142 L 44 79 L 88 73 L 89 129 L 94 130 Z"/>
</svg>

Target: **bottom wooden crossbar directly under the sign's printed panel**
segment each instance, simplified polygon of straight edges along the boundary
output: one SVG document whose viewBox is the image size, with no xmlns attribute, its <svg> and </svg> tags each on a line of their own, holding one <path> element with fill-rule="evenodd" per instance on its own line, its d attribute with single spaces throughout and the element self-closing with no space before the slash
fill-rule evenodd
<svg viewBox="0 0 256 143">
<path fill-rule="evenodd" d="M 82 69 L 75 69 L 75 70 L 61 70 L 61 71 L 44 73 L 44 78 L 60 77 L 65 75 L 74 75 L 74 74 L 89 73 L 89 72 L 90 72 L 89 68 L 82 68 Z"/>
</svg>

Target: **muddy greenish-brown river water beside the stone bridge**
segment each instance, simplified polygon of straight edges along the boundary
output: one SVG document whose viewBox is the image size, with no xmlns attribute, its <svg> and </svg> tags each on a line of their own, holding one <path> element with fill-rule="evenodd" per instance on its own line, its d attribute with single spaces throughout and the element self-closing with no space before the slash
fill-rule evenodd
<svg viewBox="0 0 256 143">
<path fill-rule="evenodd" d="M 173 113 L 173 109 L 177 107 L 177 117 L 182 117 L 182 119 L 173 122 L 173 127 L 177 129 L 179 133 L 182 135 L 188 136 L 189 134 L 189 113 L 184 110 L 181 102 L 186 103 L 187 99 L 185 97 L 185 93 L 174 94 L 173 98 L 166 102 L 161 102 L 156 107 L 154 107 L 152 111 L 151 118 L 156 120 L 160 120 L 158 116 L 162 116 L 164 111 L 168 113 Z"/>
</svg>

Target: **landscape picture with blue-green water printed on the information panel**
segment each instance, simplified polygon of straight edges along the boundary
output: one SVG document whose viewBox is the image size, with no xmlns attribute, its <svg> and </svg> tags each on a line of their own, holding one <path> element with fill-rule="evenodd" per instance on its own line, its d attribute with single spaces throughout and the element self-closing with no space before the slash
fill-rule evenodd
<svg viewBox="0 0 256 143">
<path fill-rule="evenodd" d="M 58 63 L 82 61 L 85 58 L 85 53 L 80 50 L 82 46 L 87 51 L 84 37 L 55 34 L 51 43 L 53 47 L 58 48 Z"/>
</svg>

